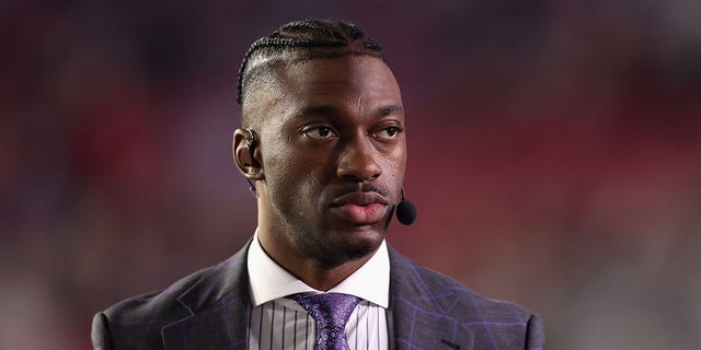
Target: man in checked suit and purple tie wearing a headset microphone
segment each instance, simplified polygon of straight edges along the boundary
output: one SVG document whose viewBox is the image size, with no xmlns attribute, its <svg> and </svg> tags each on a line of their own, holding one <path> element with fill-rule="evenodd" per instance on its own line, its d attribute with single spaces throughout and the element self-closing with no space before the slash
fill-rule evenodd
<svg viewBox="0 0 701 350">
<path fill-rule="evenodd" d="M 95 315 L 96 349 L 542 349 L 537 315 L 386 244 L 405 120 L 377 43 L 343 22 L 283 25 L 252 45 L 238 90 L 233 158 L 257 198 L 253 238 Z"/>
</svg>

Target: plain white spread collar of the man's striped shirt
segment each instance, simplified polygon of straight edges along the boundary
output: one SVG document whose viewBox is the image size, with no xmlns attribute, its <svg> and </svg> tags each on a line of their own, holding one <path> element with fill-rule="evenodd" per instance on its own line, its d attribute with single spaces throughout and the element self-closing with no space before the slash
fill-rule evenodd
<svg viewBox="0 0 701 350">
<path fill-rule="evenodd" d="M 277 265 L 263 250 L 257 230 L 249 247 L 248 270 L 251 301 L 254 306 L 295 293 L 323 293 L 307 285 Z M 329 290 L 329 292 L 355 295 L 384 308 L 389 306 L 389 291 L 390 258 L 384 241 L 367 262 Z"/>
</svg>

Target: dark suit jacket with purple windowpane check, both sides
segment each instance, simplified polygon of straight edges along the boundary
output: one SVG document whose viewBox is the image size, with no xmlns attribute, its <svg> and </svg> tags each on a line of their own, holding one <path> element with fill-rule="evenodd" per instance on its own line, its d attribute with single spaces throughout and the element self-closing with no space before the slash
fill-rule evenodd
<svg viewBox="0 0 701 350">
<path fill-rule="evenodd" d="M 93 318 L 95 349 L 246 349 L 248 246 L 168 289 Z M 476 294 L 389 247 L 394 349 L 542 350 L 540 318 Z"/>
</svg>

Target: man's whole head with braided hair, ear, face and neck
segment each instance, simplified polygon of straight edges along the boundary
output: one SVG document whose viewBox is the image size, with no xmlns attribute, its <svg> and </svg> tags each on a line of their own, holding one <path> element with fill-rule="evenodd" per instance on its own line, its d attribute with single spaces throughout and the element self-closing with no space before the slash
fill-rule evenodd
<svg viewBox="0 0 701 350">
<path fill-rule="evenodd" d="M 234 132 L 234 160 L 256 183 L 266 252 L 294 272 L 368 258 L 406 162 L 401 93 L 379 46 L 345 23 L 284 25 L 249 50 L 239 102 L 248 129 Z"/>
</svg>

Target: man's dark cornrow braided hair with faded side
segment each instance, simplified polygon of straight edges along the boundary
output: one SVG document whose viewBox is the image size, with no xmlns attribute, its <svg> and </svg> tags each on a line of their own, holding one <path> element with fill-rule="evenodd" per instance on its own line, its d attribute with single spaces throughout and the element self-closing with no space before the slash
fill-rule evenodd
<svg viewBox="0 0 701 350">
<path fill-rule="evenodd" d="M 255 40 L 243 57 L 237 82 L 237 102 L 243 104 L 246 88 L 256 70 L 273 62 L 369 55 L 381 58 L 382 48 L 350 23 L 307 20 L 284 24 L 268 36 Z"/>
</svg>

